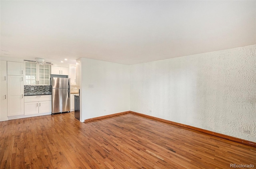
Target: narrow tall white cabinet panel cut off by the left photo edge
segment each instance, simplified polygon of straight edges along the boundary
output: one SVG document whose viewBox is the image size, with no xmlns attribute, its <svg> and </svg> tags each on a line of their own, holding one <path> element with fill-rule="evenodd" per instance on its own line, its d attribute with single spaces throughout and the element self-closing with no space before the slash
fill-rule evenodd
<svg viewBox="0 0 256 169">
<path fill-rule="evenodd" d="M 0 122 L 8 120 L 7 114 L 7 61 L 0 61 Z"/>
</svg>

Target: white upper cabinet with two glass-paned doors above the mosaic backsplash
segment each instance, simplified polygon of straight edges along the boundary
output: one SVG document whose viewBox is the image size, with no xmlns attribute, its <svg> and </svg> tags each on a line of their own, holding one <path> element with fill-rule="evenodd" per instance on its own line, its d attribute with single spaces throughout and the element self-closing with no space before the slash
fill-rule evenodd
<svg viewBox="0 0 256 169">
<path fill-rule="evenodd" d="M 24 63 L 24 85 L 50 85 L 50 65 L 39 65 L 28 61 Z"/>
</svg>

